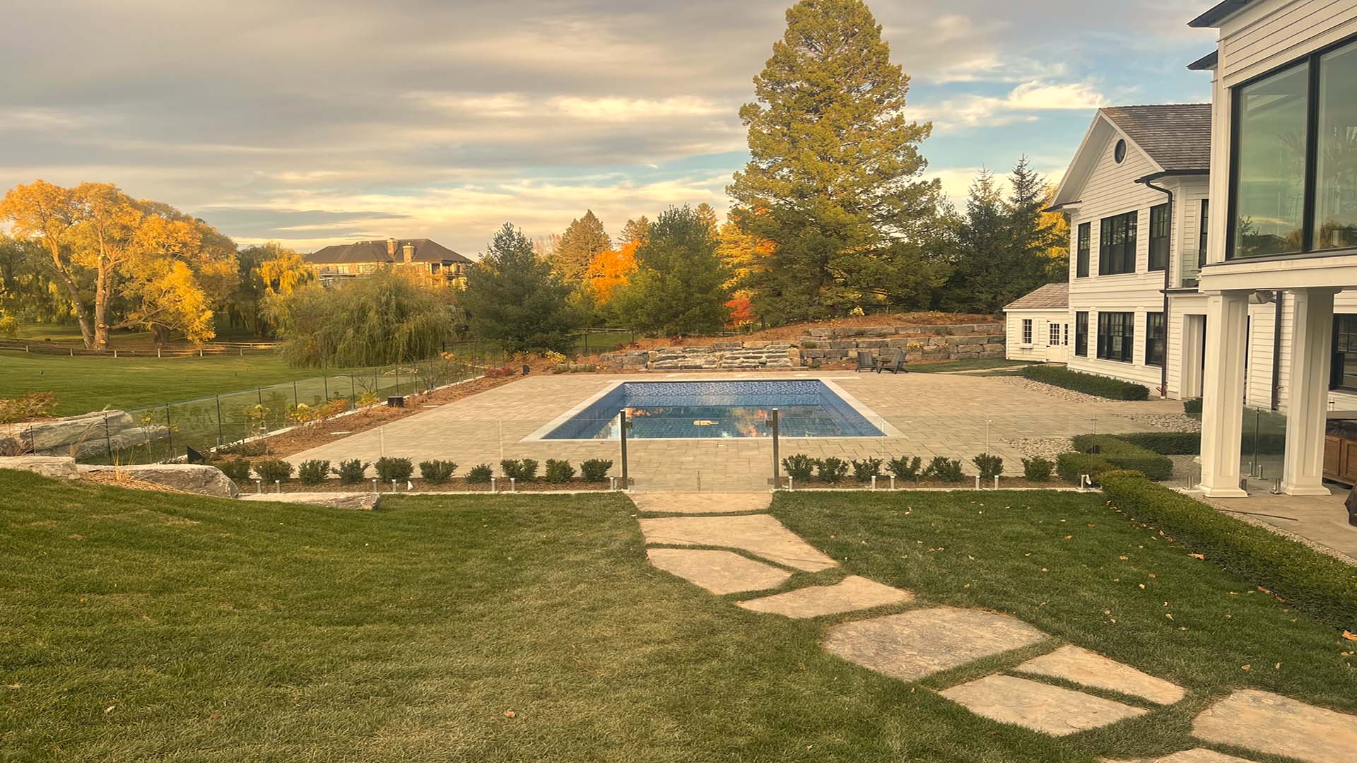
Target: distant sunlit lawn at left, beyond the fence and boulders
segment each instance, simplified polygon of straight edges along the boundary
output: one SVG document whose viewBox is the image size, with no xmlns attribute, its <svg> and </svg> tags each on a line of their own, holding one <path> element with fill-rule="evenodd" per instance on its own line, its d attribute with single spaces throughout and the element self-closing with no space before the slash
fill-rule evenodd
<svg viewBox="0 0 1357 763">
<path fill-rule="evenodd" d="M 274 354 L 111 358 L 0 352 L 0 398 L 52 392 L 53 413 L 136 409 L 319 376 Z"/>
</svg>

